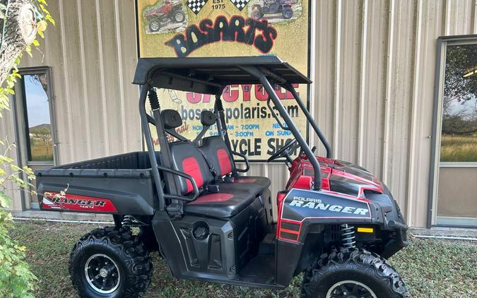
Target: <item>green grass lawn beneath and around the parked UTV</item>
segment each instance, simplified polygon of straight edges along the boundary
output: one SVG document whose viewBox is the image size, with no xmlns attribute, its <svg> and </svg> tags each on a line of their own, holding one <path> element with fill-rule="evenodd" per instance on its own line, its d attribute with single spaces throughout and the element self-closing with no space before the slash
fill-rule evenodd
<svg viewBox="0 0 477 298">
<path fill-rule="evenodd" d="M 96 225 L 16 222 L 13 238 L 27 246 L 27 261 L 38 277 L 37 297 L 77 297 L 68 258 L 73 244 Z M 477 243 L 411 239 L 390 258 L 413 297 L 477 297 Z M 153 254 L 153 280 L 146 297 L 299 297 L 301 275 L 286 290 L 270 291 L 176 280 Z"/>
</svg>

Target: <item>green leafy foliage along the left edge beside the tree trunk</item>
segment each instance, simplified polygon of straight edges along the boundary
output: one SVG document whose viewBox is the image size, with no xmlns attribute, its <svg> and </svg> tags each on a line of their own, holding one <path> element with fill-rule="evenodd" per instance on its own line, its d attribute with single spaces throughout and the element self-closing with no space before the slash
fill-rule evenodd
<svg viewBox="0 0 477 298">
<path fill-rule="evenodd" d="M 0 25 L 3 28 L 8 18 L 8 7 L 0 3 Z M 37 20 L 37 33 L 44 37 L 43 32 L 47 28 L 46 21 L 54 25 L 54 20 L 47 11 L 46 0 L 35 0 L 37 6 L 35 17 Z M 2 44 L 3 45 L 3 44 Z M 38 47 L 40 42 L 33 41 L 33 46 Z M 1 49 L 0 49 L 1 52 Z M 28 45 L 25 52 L 32 56 L 32 47 Z M 22 54 L 14 63 L 13 71 L 7 76 L 4 82 L 0 82 L 0 118 L 2 112 L 10 109 L 10 96 L 13 95 L 16 79 L 20 78 L 18 64 Z M 8 191 L 20 190 L 34 194 L 34 186 L 31 181 L 35 179 L 32 169 L 29 167 L 19 167 L 13 158 L 8 157 L 15 144 L 8 140 L 0 140 L 0 148 L 6 147 L 4 153 L 0 153 L 0 297 L 34 297 L 35 275 L 30 271 L 25 259 L 25 246 L 21 246 L 17 241 L 11 239 L 9 231 L 13 229 L 13 217 L 8 212 L 11 207 L 11 198 Z"/>
</svg>

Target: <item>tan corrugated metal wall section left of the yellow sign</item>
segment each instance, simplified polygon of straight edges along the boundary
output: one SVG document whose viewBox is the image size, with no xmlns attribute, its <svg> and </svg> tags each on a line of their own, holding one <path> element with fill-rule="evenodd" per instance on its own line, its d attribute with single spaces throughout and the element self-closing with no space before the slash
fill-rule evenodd
<svg viewBox="0 0 477 298">
<path fill-rule="evenodd" d="M 134 0 L 54 0 L 42 52 L 22 66 L 51 66 L 59 162 L 141 150 Z"/>
</svg>

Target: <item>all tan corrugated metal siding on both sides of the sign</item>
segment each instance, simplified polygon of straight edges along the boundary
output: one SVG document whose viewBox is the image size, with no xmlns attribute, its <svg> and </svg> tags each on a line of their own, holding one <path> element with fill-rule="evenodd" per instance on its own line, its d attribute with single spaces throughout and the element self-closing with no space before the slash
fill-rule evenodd
<svg viewBox="0 0 477 298">
<path fill-rule="evenodd" d="M 23 66 L 52 66 L 59 162 L 139 150 L 134 1 L 49 3 L 57 25 L 45 57 Z M 335 157 L 384 179 L 410 225 L 424 226 L 436 39 L 476 32 L 476 0 L 312 3 L 315 119 Z M 252 165 L 250 174 L 270 177 L 273 193 L 288 179 L 283 165 Z"/>
</svg>

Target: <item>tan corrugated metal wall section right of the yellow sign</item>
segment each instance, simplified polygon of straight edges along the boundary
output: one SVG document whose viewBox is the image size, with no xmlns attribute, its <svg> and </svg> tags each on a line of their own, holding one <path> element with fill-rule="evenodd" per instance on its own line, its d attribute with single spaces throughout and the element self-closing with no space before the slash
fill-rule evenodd
<svg viewBox="0 0 477 298">
<path fill-rule="evenodd" d="M 476 1 L 317 1 L 314 116 L 334 156 L 377 174 L 425 226 L 436 39 L 476 32 Z"/>
</svg>

